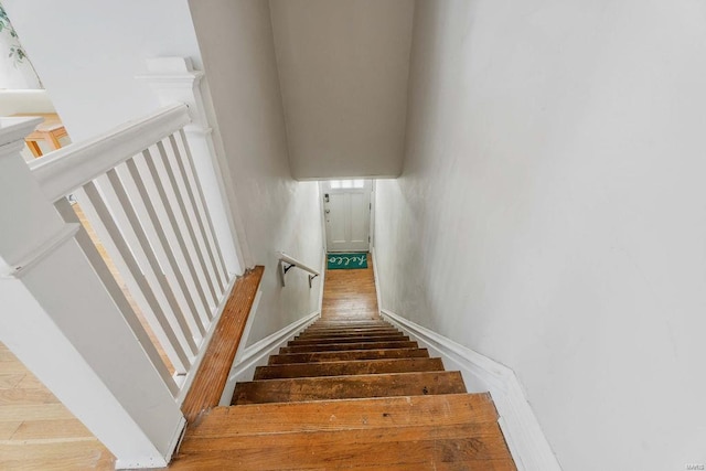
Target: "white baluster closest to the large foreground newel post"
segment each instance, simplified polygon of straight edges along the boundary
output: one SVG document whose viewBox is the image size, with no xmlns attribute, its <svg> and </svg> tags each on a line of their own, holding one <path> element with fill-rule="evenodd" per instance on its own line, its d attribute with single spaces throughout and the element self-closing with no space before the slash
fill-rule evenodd
<svg viewBox="0 0 706 471">
<path fill-rule="evenodd" d="M 66 199 L 58 200 L 54 204 L 54 206 L 56 206 L 56 210 L 62 215 L 64 221 L 66 221 L 67 223 L 79 223 L 79 220 L 76 216 L 76 212 L 72 207 L 68 200 Z M 176 394 L 179 394 L 179 386 L 176 385 L 176 382 L 174 382 L 171 374 L 169 373 L 169 370 L 167 368 L 167 365 L 162 361 L 162 357 L 160 356 L 159 352 L 157 351 L 157 347 L 152 343 L 152 340 L 150 339 L 149 334 L 145 330 L 145 327 L 142 327 L 142 323 L 140 322 L 138 317 L 136 315 L 135 310 L 130 306 L 130 302 L 128 301 L 127 297 L 122 292 L 122 289 L 120 289 L 120 286 L 118 285 L 117 280 L 108 269 L 106 261 L 98 253 L 96 245 L 90 239 L 90 236 L 86 232 L 85 227 L 82 226 L 78 229 L 78 233 L 76 233 L 76 242 L 78 242 L 78 244 L 81 245 L 81 248 L 83 249 L 84 254 L 86 254 L 86 258 L 88 258 L 88 261 L 90 263 L 90 265 L 93 265 L 94 269 L 96 270 L 96 274 L 103 281 L 103 285 L 106 287 L 106 290 L 110 293 L 110 297 L 113 298 L 116 306 L 122 313 L 122 317 L 127 321 L 128 325 L 130 325 L 130 329 L 135 333 L 135 336 L 142 345 L 145 353 L 147 353 L 147 356 L 150 358 L 150 362 L 152 362 L 152 364 L 154 365 L 157 373 L 159 373 L 160 377 L 162 378 L 162 381 L 164 382 L 169 390 L 175 397 Z"/>
</svg>

